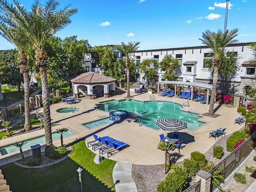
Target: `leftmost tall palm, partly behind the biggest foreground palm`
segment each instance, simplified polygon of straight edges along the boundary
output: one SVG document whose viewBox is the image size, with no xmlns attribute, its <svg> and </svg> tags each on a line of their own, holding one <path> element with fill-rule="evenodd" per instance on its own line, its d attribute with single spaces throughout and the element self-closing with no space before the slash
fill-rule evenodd
<svg viewBox="0 0 256 192">
<path fill-rule="evenodd" d="M 4 17 L 4 15 L 0 15 L 0 35 L 3 36 L 3 38 L 6 38 L 7 41 L 12 43 L 18 49 L 17 61 L 24 79 L 24 129 L 25 131 L 30 131 L 32 130 L 32 126 L 29 119 L 29 70 L 27 68 L 28 59 L 24 53 L 28 46 L 28 41 L 24 38 L 22 32 L 23 29 L 18 23 L 8 17 Z"/>
</svg>

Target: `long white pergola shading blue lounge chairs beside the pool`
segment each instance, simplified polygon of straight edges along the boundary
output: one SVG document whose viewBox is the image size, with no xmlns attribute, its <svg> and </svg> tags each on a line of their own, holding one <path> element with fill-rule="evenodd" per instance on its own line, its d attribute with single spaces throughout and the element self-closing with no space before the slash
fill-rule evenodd
<svg viewBox="0 0 256 192">
<path fill-rule="evenodd" d="M 206 97 L 206 104 L 209 104 L 209 92 L 212 89 L 212 85 L 211 84 L 204 84 L 204 83 L 194 83 L 194 82 L 183 82 L 183 81 L 160 81 L 157 82 L 157 94 L 159 95 L 159 85 L 160 84 L 173 84 L 175 85 L 175 97 L 177 94 L 177 85 L 182 85 L 182 86 L 190 86 L 191 87 L 191 93 L 193 94 L 194 91 L 194 87 L 200 87 L 200 88 L 204 88 L 207 89 L 207 97 Z M 191 97 L 191 101 L 193 100 L 193 98 Z"/>
</svg>

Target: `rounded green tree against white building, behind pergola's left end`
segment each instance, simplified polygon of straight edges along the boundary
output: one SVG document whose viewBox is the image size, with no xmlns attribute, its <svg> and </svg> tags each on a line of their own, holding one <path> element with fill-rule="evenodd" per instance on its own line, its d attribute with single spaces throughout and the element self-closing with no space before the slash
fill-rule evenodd
<svg viewBox="0 0 256 192">
<path fill-rule="evenodd" d="M 175 81 L 177 74 L 180 73 L 180 64 L 177 58 L 173 58 L 172 55 L 165 55 L 163 60 L 159 63 L 161 70 L 165 71 L 163 78 Z"/>
</svg>

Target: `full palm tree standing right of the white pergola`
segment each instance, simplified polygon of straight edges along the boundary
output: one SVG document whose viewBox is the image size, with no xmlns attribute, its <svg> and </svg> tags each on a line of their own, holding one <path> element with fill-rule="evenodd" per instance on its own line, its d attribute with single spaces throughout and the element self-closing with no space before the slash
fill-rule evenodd
<svg viewBox="0 0 256 192">
<path fill-rule="evenodd" d="M 221 67 L 220 55 L 224 52 L 224 49 L 229 45 L 238 42 L 234 39 L 237 36 L 238 29 L 226 30 L 223 32 L 221 29 L 218 29 L 217 32 L 211 32 L 209 30 L 203 32 L 202 38 L 199 40 L 203 44 L 207 45 L 214 54 L 213 56 L 213 78 L 212 78 L 212 94 L 211 101 L 209 106 L 209 114 L 214 115 L 214 103 L 215 96 L 217 93 L 217 83 L 218 83 L 218 70 Z"/>
</svg>

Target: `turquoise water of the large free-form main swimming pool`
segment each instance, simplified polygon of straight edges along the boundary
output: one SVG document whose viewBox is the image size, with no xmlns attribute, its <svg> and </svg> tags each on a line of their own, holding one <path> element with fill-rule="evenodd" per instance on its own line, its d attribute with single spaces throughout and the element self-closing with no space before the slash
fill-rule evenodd
<svg viewBox="0 0 256 192">
<path fill-rule="evenodd" d="M 198 114 L 181 111 L 182 106 L 172 102 L 152 101 L 140 102 L 135 100 L 121 100 L 102 102 L 99 106 L 100 110 L 110 112 L 113 110 L 125 110 L 136 113 L 140 124 L 159 130 L 155 125 L 157 119 L 174 118 L 186 122 L 189 130 L 193 130 L 203 125 L 204 122 L 199 122 L 201 117 Z"/>
</svg>

